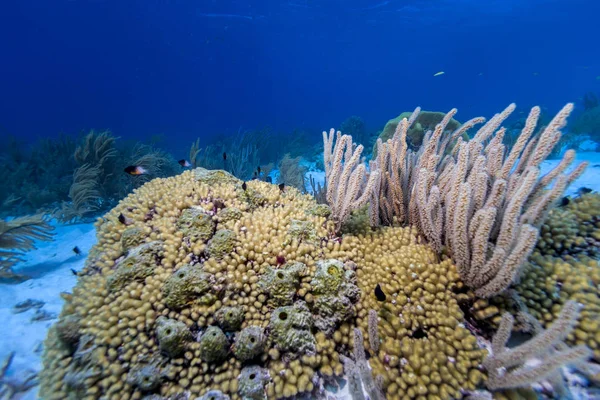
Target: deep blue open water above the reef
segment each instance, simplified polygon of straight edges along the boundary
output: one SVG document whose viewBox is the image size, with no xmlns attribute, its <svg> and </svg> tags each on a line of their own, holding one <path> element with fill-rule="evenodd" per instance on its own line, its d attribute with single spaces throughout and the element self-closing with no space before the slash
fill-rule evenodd
<svg viewBox="0 0 600 400">
<path fill-rule="evenodd" d="M 600 87 L 598 0 L 4 1 L 0 134 L 369 128 Z M 442 76 L 434 77 L 438 71 Z"/>
</svg>

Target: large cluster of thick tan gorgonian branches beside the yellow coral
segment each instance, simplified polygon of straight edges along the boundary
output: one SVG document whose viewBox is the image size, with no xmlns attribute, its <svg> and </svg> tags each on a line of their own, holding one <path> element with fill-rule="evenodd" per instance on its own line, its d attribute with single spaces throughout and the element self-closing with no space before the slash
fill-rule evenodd
<svg viewBox="0 0 600 400">
<path fill-rule="evenodd" d="M 567 174 L 575 159 L 575 153 L 567 151 L 557 167 L 540 173 L 572 104 L 538 133 L 540 109 L 534 107 L 514 145 L 507 148 L 501 125 L 514 109 L 511 104 L 493 116 L 468 141 L 463 135 L 483 118 L 446 132 L 445 124 L 456 113 L 451 110 L 425 134 L 417 151 L 406 146 L 413 114 L 398 123 L 392 138 L 378 141 L 371 168 L 381 176 L 372 220 L 416 226 L 436 251 L 445 248 L 452 255 L 463 281 L 482 297 L 502 292 L 518 278 L 549 210 L 586 166 L 582 163 Z"/>
</svg>

